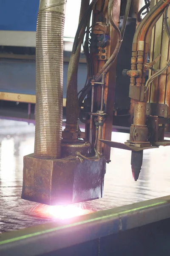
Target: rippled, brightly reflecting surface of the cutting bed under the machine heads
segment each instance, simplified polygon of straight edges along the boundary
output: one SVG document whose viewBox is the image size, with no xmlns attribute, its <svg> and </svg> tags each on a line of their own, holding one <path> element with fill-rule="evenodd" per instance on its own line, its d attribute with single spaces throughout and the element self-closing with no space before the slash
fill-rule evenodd
<svg viewBox="0 0 170 256">
<path fill-rule="evenodd" d="M 112 140 L 129 135 L 113 132 Z M 20 198 L 23 156 L 34 151 L 34 125 L 0 120 L 0 233 L 51 221 L 34 212 L 37 204 Z M 130 151 L 111 149 L 105 175 L 104 198 L 84 204 L 88 209 L 108 209 L 170 194 L 170 147 L 144 151 L 137 182 L 131 174 Z M 52 219 L 52 221 L 58 221 Z"/>
</svg>

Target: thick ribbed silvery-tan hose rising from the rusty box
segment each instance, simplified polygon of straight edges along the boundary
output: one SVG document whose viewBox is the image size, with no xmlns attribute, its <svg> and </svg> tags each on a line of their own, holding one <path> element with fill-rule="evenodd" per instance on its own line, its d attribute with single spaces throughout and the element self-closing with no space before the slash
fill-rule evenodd
<svg viewBox="0 0 170 256">
<path fill-rule="evenodd" d="M 61 155 L 65 5 L 65 0 L 40 0 L 36 35 L 36 157 Z"/>
</svg>

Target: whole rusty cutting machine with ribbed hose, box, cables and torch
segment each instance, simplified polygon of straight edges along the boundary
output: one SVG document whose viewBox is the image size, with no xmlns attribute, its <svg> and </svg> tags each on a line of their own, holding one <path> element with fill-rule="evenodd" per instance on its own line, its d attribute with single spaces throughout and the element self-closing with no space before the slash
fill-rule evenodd
<svg viewBox="0 0 170 256">
<path fill-rule="evenodd" d="M 169 5 L 170 0 L 146 0 L 144 7 L 136 0 L 82 0 L 68 67 L 66 122 L 62 131 L 66 0 L 40 0 L 35 145 L 34 153 L 24 157 L 23 199 L 57 205 L 101 198 L 111 147 L 132 151 L 132 173 L 137 180 L 143 151 L 170 145 L 170 141 L 164 140 L 165 128 L 170 123 Z M 120 9 L 125 9 L 121 28 Z M 112 142 L 111 133 L 116 58 L 130 10 L 138 13 L 136 32 L 131 68 L 122 70 L 122 76 L 130 77 L 132 125 L 130 139 L 122 144 Z M 78 92 L 82 45 L 88 75 Z"/>
</svg>

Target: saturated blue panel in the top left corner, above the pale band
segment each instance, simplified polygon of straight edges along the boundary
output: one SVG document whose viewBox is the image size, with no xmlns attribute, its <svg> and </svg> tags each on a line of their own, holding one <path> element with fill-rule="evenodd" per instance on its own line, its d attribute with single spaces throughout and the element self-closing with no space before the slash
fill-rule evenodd
<svg viewBox="0 0 170 256">
<path fill-rule="evenodd" d="M 40 0 L 0 0 L 0 30 L 36 31 Z"/>
</svg>

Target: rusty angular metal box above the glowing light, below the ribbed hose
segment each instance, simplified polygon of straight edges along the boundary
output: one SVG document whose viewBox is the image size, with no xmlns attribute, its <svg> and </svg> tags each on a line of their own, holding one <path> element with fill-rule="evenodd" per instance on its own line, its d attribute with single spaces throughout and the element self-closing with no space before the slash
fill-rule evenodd
<svg viewBox="0 0 170 256">
<path fill-rule="evenodd" d="M 22 198 L 48 205 L 72 204 L 103 197 L 106 160 L 77 157 L 24 157 Z"/>
</svg>

